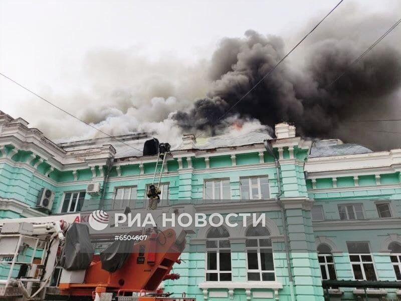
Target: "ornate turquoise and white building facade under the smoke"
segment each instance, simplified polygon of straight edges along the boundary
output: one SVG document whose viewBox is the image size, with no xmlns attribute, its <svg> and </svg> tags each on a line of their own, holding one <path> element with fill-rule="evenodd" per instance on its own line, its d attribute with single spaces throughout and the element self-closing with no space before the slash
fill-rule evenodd
<svg viewBox="0 0 401 301">
<path fill-rule="evenodd" d="M 164 281 L 164 290 L 198 301 L 309 301 L 324 299 L 322 278 L 401 280 L 401 150 L 308 141 L 286 123 L 276 125 L 275 136 L 241 130 L 197 140 L 184 135 L 173 148 L 160 206 L 265 213 L 266 227 L 205 227 L 189 235 L 174 266 L 180 278 Z M 1 113 L 0 218 L 64 215 L 81 210 L 85 200 L 95 204 L 85 209 L 144 208 L 156 163 L 141 153 L 150 137 L 56 144 L 25 120 Z M 87 192 L 90 184 L 98 191 Z M 49 210 L 37 206 L 43 188 L 53 193 Z M 332 300 L 363 297 L 353 288 L 325 293 Z M 396 299 L 401 291 L 368 294 Z"/>
</svg>

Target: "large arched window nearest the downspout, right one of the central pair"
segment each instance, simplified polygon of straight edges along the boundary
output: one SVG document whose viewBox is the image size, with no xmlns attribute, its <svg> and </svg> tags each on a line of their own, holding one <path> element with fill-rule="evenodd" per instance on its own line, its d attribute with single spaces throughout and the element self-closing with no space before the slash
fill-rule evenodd
<svg viewBox="0 0 401 301">
<path fill-rule="evenodd" d="M 257 225 L 246 232 L 247 272 L 249 281 L 274 281 L 274 262 L 270 232 Z"/>
</svg>

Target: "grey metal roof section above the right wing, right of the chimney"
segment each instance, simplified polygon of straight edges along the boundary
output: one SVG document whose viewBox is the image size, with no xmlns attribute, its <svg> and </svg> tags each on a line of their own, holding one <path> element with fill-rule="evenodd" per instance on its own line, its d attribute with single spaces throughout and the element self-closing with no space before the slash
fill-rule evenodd
<svg viewBox="0 0 401 301">
<path fill-rule="evenodd" d="M 321 140 L 313 143 L 309 158 L 366 154 L 373 151 L 358 144 L 342 143 L 341 140 Z"/>
</svg>

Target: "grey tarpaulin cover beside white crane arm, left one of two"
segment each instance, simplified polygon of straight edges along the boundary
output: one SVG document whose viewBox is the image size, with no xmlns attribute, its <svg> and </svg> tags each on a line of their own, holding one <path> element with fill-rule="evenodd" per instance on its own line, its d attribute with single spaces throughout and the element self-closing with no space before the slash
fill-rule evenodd
<svg viewBox="0 0 401 301">
<path fill-rule="evenodd" d="M 91 263 L 93 253 L 88 226 L 73 223 L 66 233 L 61 266 L 66 270 L 86 269 Z"/>
</svg>

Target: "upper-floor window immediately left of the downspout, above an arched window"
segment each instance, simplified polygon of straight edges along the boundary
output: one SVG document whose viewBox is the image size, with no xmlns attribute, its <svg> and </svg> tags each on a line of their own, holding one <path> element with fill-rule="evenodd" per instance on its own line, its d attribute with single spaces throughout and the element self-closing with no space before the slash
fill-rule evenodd
<svg viewBox="0 0 401 301">
<path fill-rule="evenodd" d="M 269 199 L 269 182 L 267 177 L 241 179 L 241 198 L 245 200 Z"/>
</svg>

